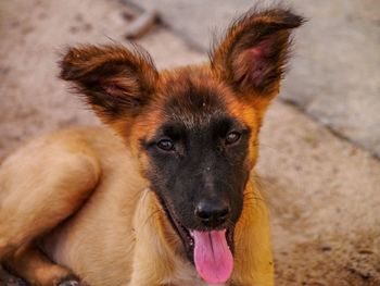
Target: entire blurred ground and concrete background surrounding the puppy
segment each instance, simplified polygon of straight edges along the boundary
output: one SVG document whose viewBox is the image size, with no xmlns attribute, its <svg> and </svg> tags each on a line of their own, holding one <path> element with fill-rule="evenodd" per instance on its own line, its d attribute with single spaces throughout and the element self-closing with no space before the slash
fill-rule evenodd
<svg viewBox="0 0 380 286">
<path fill-rule="evenodd" d="M 160 69 L 198 63 L 213 35 L 255 3 L 269 5 L 0 0 L 0 161 L 39 134 L 100 124 L 58 79 L 65 47 L 134 39 Z M 308 22 L 295 32 L 257 166 L 277 285 L 380 285 L 380 1 L 287 4 Z"/>
</svg>

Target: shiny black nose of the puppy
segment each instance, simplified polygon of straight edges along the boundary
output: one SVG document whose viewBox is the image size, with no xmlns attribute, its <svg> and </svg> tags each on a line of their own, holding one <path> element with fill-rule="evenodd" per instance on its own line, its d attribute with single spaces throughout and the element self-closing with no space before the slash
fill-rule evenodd
<svg viewBox="0 0 380 286">
<path fill-rule="evenodd" d="M 218 226 L 226 222 L 229 214 L 229 206 L 223 200 L 202 200 L 195 207 L 195 215 L 207 226 Z"/>
</svg>

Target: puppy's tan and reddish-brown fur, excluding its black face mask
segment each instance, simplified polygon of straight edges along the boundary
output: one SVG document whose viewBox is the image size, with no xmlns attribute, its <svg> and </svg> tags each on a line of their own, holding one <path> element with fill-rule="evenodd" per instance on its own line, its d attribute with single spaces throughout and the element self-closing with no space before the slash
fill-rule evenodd
<svg viewBox="0 0 380 286">
<path fill-rule="evenodd" d="M 191 117 L 186 97 L 179 96 L 186 89 L 211 90 L 226 112 L 250 127 L 246 167 L 253 169 L 290 28 L 301 23 L 287 10 L 250 12 L 215 48 L 211 64 L 160 73 L 138 47 L 71 49 L 61 77 L 75 84 L 112 132 L 48 135 L 3 162 L 0 259 L 34 285 L 60 285 L 73 273 L 92 286 L 205 285 L 149 190 L 150 160 L 140 140 L 166 120 L 170 100 L 178 101 L 179 116 Z M 252 171 L 236 226 L 230 286 L 274 284 L 268 214 L 254 177 Z"/>
</svg>

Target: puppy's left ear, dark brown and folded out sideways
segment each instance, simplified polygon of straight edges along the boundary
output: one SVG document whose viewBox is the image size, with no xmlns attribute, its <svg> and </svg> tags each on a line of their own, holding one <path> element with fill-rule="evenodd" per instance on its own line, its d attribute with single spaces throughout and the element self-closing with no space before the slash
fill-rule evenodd
<svg viewBox="0 0 380 286">
<path fill-rule="evenodd" d="M 61 78 L 73 82 L 106 123 L 135 116 L 151 99 L 159 73 L 137 46 L 79 46 L 61 61 Z"/>
</svg>

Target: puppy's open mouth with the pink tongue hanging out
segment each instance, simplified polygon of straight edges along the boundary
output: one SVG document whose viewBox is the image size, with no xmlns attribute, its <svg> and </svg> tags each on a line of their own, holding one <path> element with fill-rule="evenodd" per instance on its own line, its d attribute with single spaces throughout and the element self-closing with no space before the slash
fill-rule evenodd
<svg viewBox="0 0 380 286">
<path fill-rule="evenodd" d="M 233 269 L 233 226 L 205 231 L 187 228 L 161 201 L 199 275 L 208 284 L 226 283 Z"/>
</svg>

